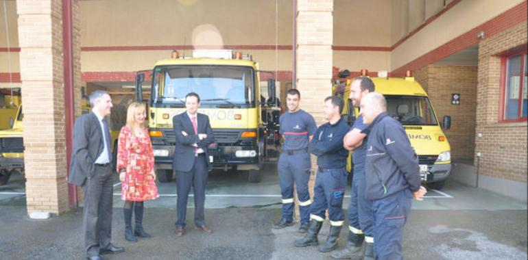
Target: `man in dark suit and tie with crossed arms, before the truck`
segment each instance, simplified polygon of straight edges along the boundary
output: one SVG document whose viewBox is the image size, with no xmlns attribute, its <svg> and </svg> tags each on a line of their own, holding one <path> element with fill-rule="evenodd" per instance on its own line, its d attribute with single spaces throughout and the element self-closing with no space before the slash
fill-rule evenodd
<svg viewBox="0 0 528 260">
<path fill-rule="evenodd" d="M 204 203 L 208 170 L 211 170 L 207 147 L 215 141 L 208 116 L 197 113 L 200 96 L 191 92 L 185 96 L 186 112 L 172 118 L 176 147 L 173 169 L 176 170 L 176 234 L 182 236 L 185 228 L 187 199 L 191 186 L 194 191 L 194 224 L 197 229 L 211 233 L 205 225 Z"/>
</svg>

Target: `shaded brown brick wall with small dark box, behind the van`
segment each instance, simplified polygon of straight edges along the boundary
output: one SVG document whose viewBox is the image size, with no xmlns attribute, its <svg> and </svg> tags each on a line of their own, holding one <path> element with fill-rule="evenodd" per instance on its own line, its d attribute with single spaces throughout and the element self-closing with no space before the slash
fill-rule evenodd
<svg viewBox="0 0 528 260">
<path fill-rule="evenodd" d="M 426 66 L 415 73 L 429 94 L 438 120 L 451 116 L 451 129 L 444 130 L 453 159 L 473 159 L 475 151 L 475 109 L 477 107 L 476 66 Z M 451 94 L 460 94 L 460 104 L 451 105 Z"/>
</svg>

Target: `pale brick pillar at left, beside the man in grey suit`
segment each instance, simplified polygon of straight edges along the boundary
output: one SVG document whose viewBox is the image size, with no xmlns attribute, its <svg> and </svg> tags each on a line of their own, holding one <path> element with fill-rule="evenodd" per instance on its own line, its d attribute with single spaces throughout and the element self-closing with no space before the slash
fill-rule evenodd
<svg viewBox="0 0 528 260">
<path fill-rule="evenodd" d="M 68 209 L 62 1 L 17 0 L 16 8 L 21 47 L 27 212 L 58 214 Z M 79 62 L 78 58 L 76 61 Z"/>
</svg>

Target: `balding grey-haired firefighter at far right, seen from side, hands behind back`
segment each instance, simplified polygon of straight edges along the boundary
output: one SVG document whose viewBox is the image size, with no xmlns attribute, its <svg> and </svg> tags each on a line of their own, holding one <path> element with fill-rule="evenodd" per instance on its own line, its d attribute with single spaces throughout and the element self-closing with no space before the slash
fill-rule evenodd
<svg viewBox="0 0 528 260">
<path fill-rule="evenodd" d="M 361 100 L 363 122 L 369 126 L 365 161 L 365 196 L 374 213 L 374 255 L 379 260 L 402 256 L 403 226 L 413 197 L 422 200 L 418 156 L 403 126 L 387 114 L 383 95 L 372 92 Z"/>
</svg>

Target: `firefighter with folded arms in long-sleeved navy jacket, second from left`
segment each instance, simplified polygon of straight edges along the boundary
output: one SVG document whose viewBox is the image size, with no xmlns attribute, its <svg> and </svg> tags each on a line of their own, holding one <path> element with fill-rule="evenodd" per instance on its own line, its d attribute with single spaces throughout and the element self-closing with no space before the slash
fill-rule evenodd
<svg viewBox="0 0 528 260">
<path fill-rule="evenodd" d="M 328 209 L 330 232 L 326 243 L 319 246 L 320 252 L 329 252 L 337 247 L 341 226 L 344 223 L 343 198 L 346 187 L 346 158 L 343 138 L 348 125 L 341 119 L 343 99 L 328 96 L 324 100 L 324 117 L 328 122 L 317 129 L 310 142 L 310 153 L 317 155 L 317 177 L 313 187 L 313 204 L 310 209 L 310 225 L 307 235 L 295 242 L 295 246 L 319 244 L 317 234 L 321 230 L 325 211 Z"/>
</svg>

